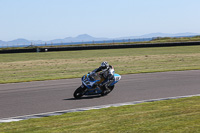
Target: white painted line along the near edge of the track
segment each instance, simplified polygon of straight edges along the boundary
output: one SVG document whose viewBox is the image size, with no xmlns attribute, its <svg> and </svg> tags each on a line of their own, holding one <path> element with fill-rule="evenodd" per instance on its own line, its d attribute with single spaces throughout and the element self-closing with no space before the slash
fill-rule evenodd
<svg viewBox="0 0 200 133">
<path fill-rule="evenodd" d="M 0 123 L 28 120 L 28 119 L 33 119 L 33 118 L 42 118 L 42 117 L 55 116 L 55 115 L 62 115 L 65 113 L 70 113 L 70 112 L 80 112 L 80 111 L 87 111 L 87 110 L 92 110 L 92 109 L 119 107 L 119 106 L 124 106 L 124 105 L 135 105 L 135 104 L 145 103 L 145 102 L 155 102 L 155 101 L 179 99 L 179 98 L 186 98 L 186 97 L 193 97 L 193 96 L 200 96 L 200 94 L 167 97 L 167 98 L 159 98 L 159 99 L 149 99 L 149 100 L 133 101 L 133 102 L 126 102 L 126 103 L 116 103 L 116 104 L 108 104 L 108 105 L 99 105 L 99 106 L 93 106 L 93 107 L 85 107 L 85 108 L 69 109 L 69 110 L 63 110 L 63 111 L 33 114 L 33 115 L 17 116 L 17 117 L 11 117 L 11 118 L 3 118 L 3 119 L 0 119 Z"/>
</svg>

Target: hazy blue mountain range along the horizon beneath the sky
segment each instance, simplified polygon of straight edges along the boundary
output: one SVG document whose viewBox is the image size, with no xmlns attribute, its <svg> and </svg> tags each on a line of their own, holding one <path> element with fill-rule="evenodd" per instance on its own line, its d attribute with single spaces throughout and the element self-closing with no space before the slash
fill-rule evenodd
<svg viewBox="0 0 200 133">
<path fill-rule="evenodd" d="M 27 40 L 23 38 L 19 38 L 12 41 L 2 41 L 0 40 L 0 45 L 35 45 L 35 44 L 55 44 L 55 43 L 71 43 L 71 42 L 89 42 L 89 41 L 104 41 L 104 40 L 122 40 L 122 39 L 141 39 L 141 38 L 153 38 L 153 37 L 185 37 L 185 36 L 196 36 L 200 35 L 197 33 L 178 33 L 178 34 L 167 34 L 167 33 L 151 33 L 145 34 L 141 36 L 128 36 L 128 37 L 119 37 L 119 38 L 96 38 L 92 37 L 88 34 L 81 34 L 77 37 L 66 37 L 64 39 L 54 39 L 50 41 L 42 41 L 42 40 Z"/>
</svg>

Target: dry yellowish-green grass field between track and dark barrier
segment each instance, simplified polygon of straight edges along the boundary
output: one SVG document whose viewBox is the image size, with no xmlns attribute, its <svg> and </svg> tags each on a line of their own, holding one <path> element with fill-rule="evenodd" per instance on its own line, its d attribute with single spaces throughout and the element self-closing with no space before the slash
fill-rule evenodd
<svg viewBox="0 0 200 133">
<path fill-rule="evenodd" d="M 200 69 L 200 46 L 0 54 L 0 83 L 77 78 L 102 61 L 119 74 Z"/>
</svg>

